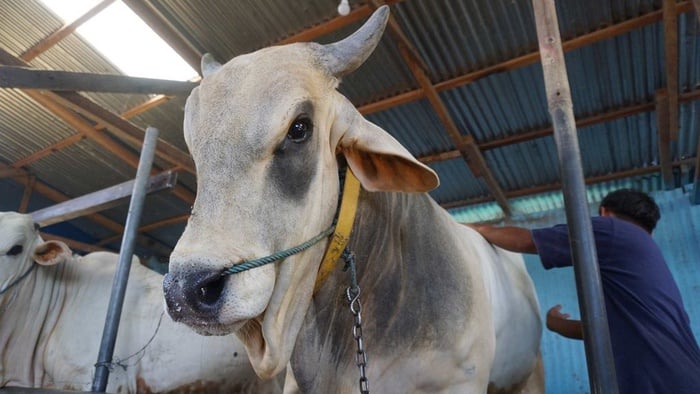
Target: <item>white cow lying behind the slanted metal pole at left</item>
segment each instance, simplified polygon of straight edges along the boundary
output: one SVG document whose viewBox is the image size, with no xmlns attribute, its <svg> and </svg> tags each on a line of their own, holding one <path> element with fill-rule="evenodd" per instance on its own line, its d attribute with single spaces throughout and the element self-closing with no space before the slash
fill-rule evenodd
<svg viewBox="0 0 700 394">
<path fill-rule="evenodd" d="M 72 256 L 31 217 L 0 213 L 0 387 L 90 390 L 114 253 Z M 235 338 L 203 337 L 163 316 L 162 276 L 134 258 L 108 392 L 277 393 Z"/>
</svg>

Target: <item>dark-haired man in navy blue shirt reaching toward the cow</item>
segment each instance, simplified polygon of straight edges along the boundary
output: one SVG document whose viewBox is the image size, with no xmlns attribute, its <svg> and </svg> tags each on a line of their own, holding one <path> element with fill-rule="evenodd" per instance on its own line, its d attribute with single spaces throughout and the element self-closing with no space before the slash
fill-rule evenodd
<svg viewBox="0 0 700 394">
<path fill-rule="evenodd" d="M 645 193 L 617 190 L 592 218 L 593 237 L 621 394 L 700 393 L 700 349 L 675 280 L 651 238 L 659 208 Z M 546 269 L 572 265 L 566 225 L 528 230 L 471 226 L 504 249 L 540 255 Z M 580 321 L 557 305 L 547 327 L 583 338 Z"/>
</svg>

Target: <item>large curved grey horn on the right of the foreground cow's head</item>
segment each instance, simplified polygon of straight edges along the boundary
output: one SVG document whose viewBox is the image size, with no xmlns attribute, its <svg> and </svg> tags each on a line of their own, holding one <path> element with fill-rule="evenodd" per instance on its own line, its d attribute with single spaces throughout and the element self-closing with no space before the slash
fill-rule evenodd
<svg viewBox="0 0 700 394">
<path fill-rule="evenodd" d="M 383 5 L 352 35 L 324 45 L 323 58 L 331 74 L 342 77 L 360 67 L 379 43 L 388 20 L 389 6 Z"/>
</svg>

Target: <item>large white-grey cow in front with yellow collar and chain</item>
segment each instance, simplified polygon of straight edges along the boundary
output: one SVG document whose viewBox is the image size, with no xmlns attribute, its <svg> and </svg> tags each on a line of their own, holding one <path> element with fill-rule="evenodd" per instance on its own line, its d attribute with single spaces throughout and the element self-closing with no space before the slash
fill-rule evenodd
<svg viewBox="0 0 700 394">
<path fill-rule="evenodd" d="M 341 264 L 318 275 L 347 161 L 363 189 L 349 248 L 372 391 L 518 392 L 528 379 L 542 391 L 539 306 L 522 258 L 455 222 L 425 193 L 436 174 L 336 90 L 387 18 L 379 8 L 334 44 L 205 59 L 185 111 L 197 198 L 164 282 L 169 313 L 203 334 L 236 333 L 261 377 L 291 362 L 302 392 L 357 392 L 350 274 Z"/>
</svg>

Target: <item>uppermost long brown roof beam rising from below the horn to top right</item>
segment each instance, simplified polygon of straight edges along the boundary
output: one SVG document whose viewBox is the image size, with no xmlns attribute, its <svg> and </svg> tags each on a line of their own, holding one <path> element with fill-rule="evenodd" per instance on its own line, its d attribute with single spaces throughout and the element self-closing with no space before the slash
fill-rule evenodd
<svg viewBox="0 0 700 394">
<path fill-rule="evenodd" d="M 690 3 L 690 1 L 684 1 L 681 3 L 677 3 L 675 5 L 675 10 L 677 14 L 691 12 L 693 10 L 693 6 Z M 562 48 L 566 52 L 583 46 L 591 45 L 595 42 L 603 41 L 611 37 L 618 36 L 620 34 L 628 33 L 632 30 L 636 30 L 662 20 L 662 14 L 663 12 L 661 10 L 658 10 L 652 11 L 648 14 L 644 14 L 636 18 L 628 19 L 624 22 L 611 25 L 606 28 L 596 30 L 594 32 L 584 34 L 582 36 L 565 41 L 562 43 Z M 539 51 L 531 52 L 526 55 L 518 56 L 516 58 L 495 64 L 493 66 L 489 66 L 480 70 L 476 70 L 474 72 L 461 75 L 456 78 L 438 82 L 435 84 L 435 88 L 438 92 L 442 92 L 444 90 L 453 89 L 459 86 L 475 82 L 481 78 L 488 77 L 492 74 L 514 70 L 516 68 L 527 66 L 538 61 L 540 61 Z M 373 112 L 382 111 L 393 106 L 420 100 L 424 97 L 424 92 L 421 89 L 416 89 L 409 92 L 404 92 L 397 96 L 389 97 L 387 99 L 362 105 L 358 109 L 361 113 L 366 115 Z"/>
</svg>

